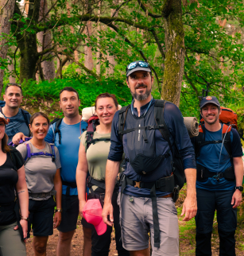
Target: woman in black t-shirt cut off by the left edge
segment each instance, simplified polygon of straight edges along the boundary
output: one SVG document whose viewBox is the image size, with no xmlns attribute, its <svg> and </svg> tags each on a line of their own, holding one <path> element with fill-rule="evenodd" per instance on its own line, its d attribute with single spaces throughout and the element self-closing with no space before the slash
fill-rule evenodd
<svg viewBox="0 0 244 256">
<path fill-rule="evenodd" d="M 25 239 L 28 230 L 28 190 L 25 182 L 24 160 L 21 154 L 7 145 L 8 124 L 0 113 L 0 255 L 25 256 Z M 14 211 L 16 189 L 21 219 L 17 230 L 17 215 Z M 21 241 L 21 237 L 23 238 Z"/>
</svg>

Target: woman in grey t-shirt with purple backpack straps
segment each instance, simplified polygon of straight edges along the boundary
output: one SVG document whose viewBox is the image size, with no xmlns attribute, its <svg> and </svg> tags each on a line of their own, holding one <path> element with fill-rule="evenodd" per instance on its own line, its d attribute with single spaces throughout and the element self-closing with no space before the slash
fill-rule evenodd
<svg viewBox="0 0 244 256">
<path fill-rule="evenodd" d="M 18 145 L 17 150 L 25 159 L 25 178 L 29 192 L 28 231 L 32 225 L 34 254 L 45 256 L 48 235 L 53 234 L 53 222 L 54 228 L 61 222 L 60 155 L 56 146 L 45 142 L 50 124 L 48 116 L 37 112 L 29 122 L 33 138 Z M 56 202 L 53 200 L 55 195 Z"/>
</svg>

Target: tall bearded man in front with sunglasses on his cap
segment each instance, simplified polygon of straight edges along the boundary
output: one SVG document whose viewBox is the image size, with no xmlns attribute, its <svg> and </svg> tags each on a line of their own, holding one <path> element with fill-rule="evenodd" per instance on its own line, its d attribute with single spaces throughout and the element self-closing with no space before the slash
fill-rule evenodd
<svg viewBox="0 0 244 256">
<path fill-rule="evenodd" d="M 121 194 L 118 196 L 123 247 L 130 250 L 130 255 L 148 256 L 150 232 L 153 256 L 179 255 L 172 152 L 175 155 L 177 150 L 184 163 L 188 188 L 181 215 L 185 214 L 184 220 L 188 221 L 197 209 L 194 149 L 178 107 L 167 102 L 160 118 L 157 114 L 154 116 L 163 101 L 156 101 L 151 95 L 153 76 L 147 62 L 139 60 L 129 64 L 126 83 L 134 99 L 130 106 L 114 115 L 103 221 L 113 225 L 111 197 L 124 152 L 125 171 L 119 176 Z M 168 138 L 161 134 L 161 130 L 165 130 L 161 128 L 161 116 L 168 127 Z"/>
</svg>

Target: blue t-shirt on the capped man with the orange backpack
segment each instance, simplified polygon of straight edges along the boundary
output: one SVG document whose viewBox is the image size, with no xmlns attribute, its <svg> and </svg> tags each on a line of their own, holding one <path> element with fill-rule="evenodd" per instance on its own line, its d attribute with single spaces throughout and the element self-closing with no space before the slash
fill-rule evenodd
<svg viewBox="0 0 244 256">
<path fill-rule="evenodd" d="M 222 141 L 222 128 L 215 132 L 205 128 L 205 141 Z M 237 130 L 230 130 L 231 153 L 233 157 L 242 157 L 242 143 Z M 192 138 L 192 144 L 195 145 L 195 138 Z M 203 145 L 199 151 L 199 156 L 196 156 L 196 163 L 203 165 L 210 172 L 223 173 L 231 166 L 230 157 L 227 149 L 222 144 Z M 214 175 L 213 175 L 214 176 Z M 210 191 L 233 190 L 235 181 L 228 181 L 225 178 L 216 180 L 215 178 L 207 178 L 203 181 L 196 180 L 196 188 L 207 189 Z"/>
</svg>

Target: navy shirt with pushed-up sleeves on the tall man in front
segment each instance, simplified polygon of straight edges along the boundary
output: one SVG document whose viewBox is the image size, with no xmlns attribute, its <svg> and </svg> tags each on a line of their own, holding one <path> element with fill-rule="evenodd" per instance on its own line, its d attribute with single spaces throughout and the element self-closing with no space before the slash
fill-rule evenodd
<svg viewBox="0 0 244 256">
<path fill-rule="evenodd" d="M 141 116 L 145 113 L 147 108 L 153 108 L 155 104 L 155 100 L 153 99 L 150 107 L 149 103 L 145 104 L 141 107 Z M 133 106 L 134 104 L 132 104 Z M 152 113 L 152 111 L 147 111 L 146 115 Z M 131 111 L 129 108 L 128 111 Z M 134 115 L 138 117 L 137 108 L 133 107 Z M 176 105 L 173 103 L 165 103 L 165 122 L 168 126 L 168 130 L 172 135 L 171 142 L 180 152 L 182 160 L 184 162 L 184 169 L 196 169 L 196 161 L 195 161 L 195 153 L 192 147 L 191 140 L 188 135 L 188 131 L 184 126 L 184 119 L 182 114 Z M 123 142 L 121 142 L 120 135 L 118 135 L 118 117 L 119 112 L 117 111 L 114 114 L 114 119 L 112 123 L 112 130 L 111 130 L 111 144 L 110 144 L 110 153 L 108 155 L 108 159 L 110 161 L 121 161 L 123 151 L 127 154 L 128 143 L 126 141 L 126 134 L 123 135 Z M 126 126 L 125 126 L 126 130 Z M 169 149 L 168 142 L 162 137 L 161 132 L 159 130 L 155 130 L 154 140 L 156 142 L 156 151 L 160 150 L 160 152 L 166 153 Z M 175 143 L 173 143 L 175 142 Z M 125 145 L 125 148 L 124 148 Z M 126 156 L 127 157 L 127 156 Z M 172 166 L 171 166 L 171 157 L 165 158 L 160 165 L 157 166 L 157 169 L 153 170 L 151 173 L 147 174 L 146 176 L 141 176 L 140 174 L 136 173 L 132 166 L 127 163 L 125 174 L 131 180 L 142 182 L 151 182 L 156 181 L 164 176 L 169 176 L 172 173 Z M 126 188 L 123 191 L 125 194 L 130 196 L 137 196 L 137 197 L 150 197 L 150 190 L 146 188 L 134 188 L 133 186 L 126 185 Z M 167 194 L 167 193 L 166 193 Z M 157 196 L 165 196 L 165 192 L 158 192 Z"/>
</svg>

